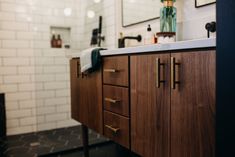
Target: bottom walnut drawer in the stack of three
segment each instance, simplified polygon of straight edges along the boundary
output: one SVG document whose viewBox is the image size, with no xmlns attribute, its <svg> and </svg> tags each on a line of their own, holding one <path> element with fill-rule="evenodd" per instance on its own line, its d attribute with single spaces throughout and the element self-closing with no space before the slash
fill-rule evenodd
<svg viewBox="0 0 235 157">
<path fill-rule="evenodd" d="M 104 111 L 104 135 L 120 145 L 130 148 L 129 118 Z"/>
</svg>

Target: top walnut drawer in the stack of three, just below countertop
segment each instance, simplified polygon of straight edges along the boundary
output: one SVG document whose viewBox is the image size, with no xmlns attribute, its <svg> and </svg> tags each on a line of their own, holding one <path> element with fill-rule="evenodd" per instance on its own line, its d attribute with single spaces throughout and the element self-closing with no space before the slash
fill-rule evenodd
<svg viewBox="0 0 235 157">
<path fill-rule="evenodd" d="M 104 84 L 126 87 L 129 85 L 128 56 L 106 57 L 103 63 Z"/>
</svg>

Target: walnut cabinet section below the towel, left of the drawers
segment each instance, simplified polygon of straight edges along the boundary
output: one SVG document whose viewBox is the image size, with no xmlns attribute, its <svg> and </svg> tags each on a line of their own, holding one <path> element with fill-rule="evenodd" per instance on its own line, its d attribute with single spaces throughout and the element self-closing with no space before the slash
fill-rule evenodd
<svg viewBox="0 0 235 157">
<path fill-rule="evenodd" d="M 72 118 L 103 134 L 101 70 L 82 74 L 79 59 L 70 60 Z"/>
</svg>

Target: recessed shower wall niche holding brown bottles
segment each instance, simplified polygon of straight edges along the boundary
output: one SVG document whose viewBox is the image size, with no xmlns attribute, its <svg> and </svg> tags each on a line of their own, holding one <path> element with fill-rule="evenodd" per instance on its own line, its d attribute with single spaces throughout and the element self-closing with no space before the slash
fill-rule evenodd
<svg viewBox="0 0 235 157">
<path fill-rule="evenodd" d="M 71 28 L 70 27 L 50 27 L 51 48 L 71 48 Z"/>
</svg>

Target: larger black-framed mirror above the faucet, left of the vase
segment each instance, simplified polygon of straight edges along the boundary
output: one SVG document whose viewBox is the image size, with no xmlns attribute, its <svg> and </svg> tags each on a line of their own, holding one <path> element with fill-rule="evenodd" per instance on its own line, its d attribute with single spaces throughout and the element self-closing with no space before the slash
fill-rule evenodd
<svg viewBox="0 0 235 157">
<path fill-rule="evenodd" d="M 159 18 L 161 6 L 160 0 L 122 0 L 122 26 Z"/>
</svg>

